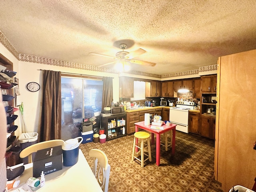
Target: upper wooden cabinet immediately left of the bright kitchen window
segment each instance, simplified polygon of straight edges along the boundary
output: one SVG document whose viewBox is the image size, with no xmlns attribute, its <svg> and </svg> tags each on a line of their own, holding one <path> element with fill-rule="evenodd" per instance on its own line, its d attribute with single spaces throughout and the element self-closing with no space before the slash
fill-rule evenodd
<svg viewBox="0 0 256 192">
<path fill-rule="evenodd" d="M 133 97 L 133 82 L 134 79 L 130 77 L 119 77 L 119 97 L 132 98 Z"/>
</svg>

